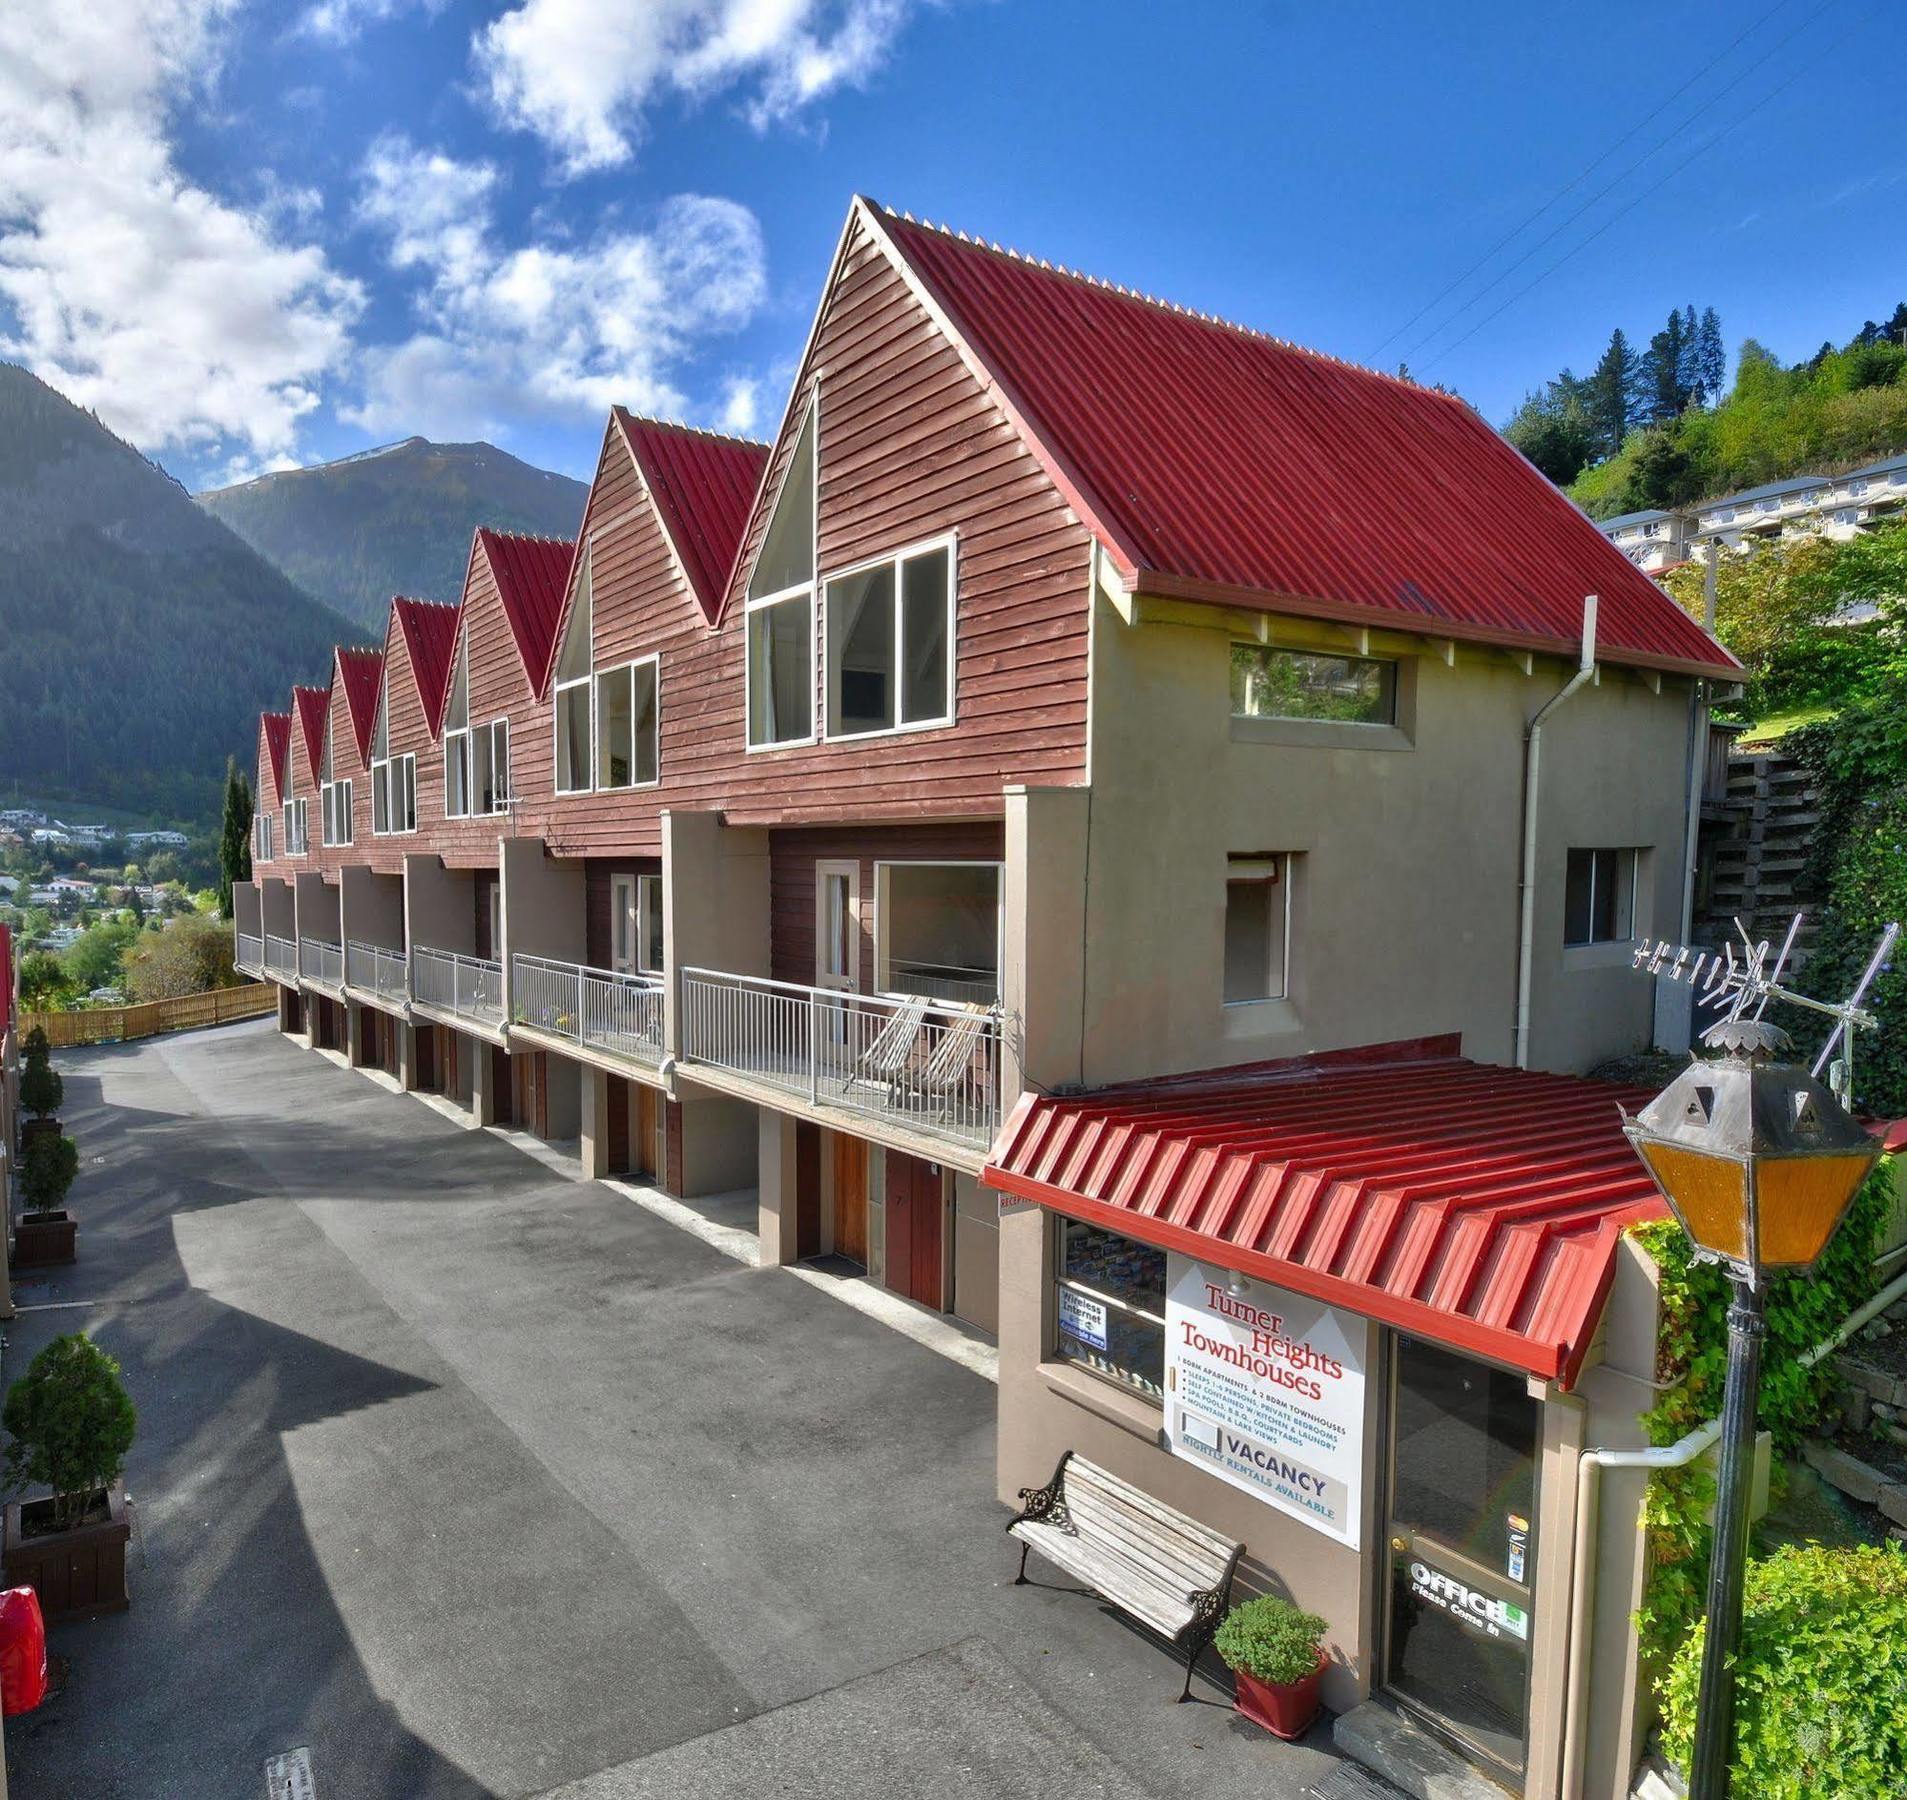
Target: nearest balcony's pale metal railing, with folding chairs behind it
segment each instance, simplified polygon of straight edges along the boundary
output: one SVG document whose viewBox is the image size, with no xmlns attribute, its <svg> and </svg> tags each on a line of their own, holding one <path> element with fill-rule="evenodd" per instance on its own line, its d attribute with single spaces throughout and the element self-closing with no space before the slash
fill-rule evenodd
<svg viewBox="0 0 1907 1800">
<path fill-rule="evenodd" d="M 997 1007 L 683 971 L 683 1054 L 810 1106 L 967 1144 L 999 1127 Z"/>
</svg>

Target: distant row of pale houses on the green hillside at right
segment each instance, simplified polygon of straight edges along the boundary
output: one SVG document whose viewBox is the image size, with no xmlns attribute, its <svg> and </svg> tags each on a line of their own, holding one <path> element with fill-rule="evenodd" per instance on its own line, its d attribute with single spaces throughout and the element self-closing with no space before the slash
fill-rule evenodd
<svg viewBox="0 0 1907 1800">
<path fill-rule="evenodd" d="M 1907 452 L 1846 475 L 1794 475 L 1699 505 L 1619 513 L 1602 521 L 1602 534 L 1636 568 L 1659 574 L 1722 549 L 1753 549 L 1770 538 L 1817 532 L 1846 540 L 1901 517 L 1907 507 Z"/>
</svg>

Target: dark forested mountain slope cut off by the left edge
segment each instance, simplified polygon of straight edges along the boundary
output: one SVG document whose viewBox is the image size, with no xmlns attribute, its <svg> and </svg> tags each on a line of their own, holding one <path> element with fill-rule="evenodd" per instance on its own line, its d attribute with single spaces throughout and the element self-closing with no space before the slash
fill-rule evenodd
<svg viewBox="0 0 1907 1800">
<path fill-rule="evenodd" d="M 0 362 L 0 791 L 210 822 L 259 709 L 360 635 Z"/>
</svg>

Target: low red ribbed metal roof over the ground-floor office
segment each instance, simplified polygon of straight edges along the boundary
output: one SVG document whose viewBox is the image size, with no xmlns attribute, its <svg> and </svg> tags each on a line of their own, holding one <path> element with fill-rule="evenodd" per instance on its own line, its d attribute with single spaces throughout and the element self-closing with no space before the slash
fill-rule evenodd
<svg viewBox="0 0 1907 1800">
<path fill-rule="evenodd" d="M 1617 1110 L 1650 1094 L 1449 1051 L 1028 1094 L 984 1180 L 1569 1384 L 1623 1228 L 1667 1217 Z"/>
</svg>

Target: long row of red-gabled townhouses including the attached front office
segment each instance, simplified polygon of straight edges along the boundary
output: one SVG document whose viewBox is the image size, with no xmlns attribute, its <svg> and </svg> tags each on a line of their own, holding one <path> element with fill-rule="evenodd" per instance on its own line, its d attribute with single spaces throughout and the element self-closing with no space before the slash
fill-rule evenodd
<svg viewBox="0 0 1907 1800">
<path fill-rule="evenodd" d="M 1619 1794 L 1657 1201 L 1583 1072 L 1735 673 L 1463 402 L 856 200 L 772 442 L 612 412 L 574 543 L 263 717 L 238 959 L 994 1340 L 1001 1499 L 1241 1541 L 1333 1707 Z"/>
</svg>

